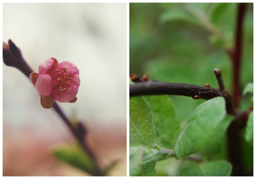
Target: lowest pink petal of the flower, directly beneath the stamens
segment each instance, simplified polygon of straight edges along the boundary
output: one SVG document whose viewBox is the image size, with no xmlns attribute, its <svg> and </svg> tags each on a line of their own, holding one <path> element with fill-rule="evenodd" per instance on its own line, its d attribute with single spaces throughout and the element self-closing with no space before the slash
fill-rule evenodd
<svg viewBox="0 0 256 179">
<path fill-rule="evenodd" d="M 58 96 L 55 96 L 55 100 L 66 103 L 70 102 L 72 99 L 76 97 L 78 93 L 78 86 L 72 85 L 68 87 L 64 92 L 60 93 Z"/>
</svg>

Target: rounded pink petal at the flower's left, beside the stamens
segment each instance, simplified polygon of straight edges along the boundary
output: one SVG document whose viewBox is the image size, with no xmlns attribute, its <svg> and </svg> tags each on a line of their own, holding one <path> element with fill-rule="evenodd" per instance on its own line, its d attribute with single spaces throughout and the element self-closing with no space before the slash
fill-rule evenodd
<svg viewBox="0 0 256 179">
<path fill-rule="evenodd" d="M 49 74 L 39 74 L 35 87 L 40 95 L 49 96 L 51 94 L 52 84 Z"/>
</svg>

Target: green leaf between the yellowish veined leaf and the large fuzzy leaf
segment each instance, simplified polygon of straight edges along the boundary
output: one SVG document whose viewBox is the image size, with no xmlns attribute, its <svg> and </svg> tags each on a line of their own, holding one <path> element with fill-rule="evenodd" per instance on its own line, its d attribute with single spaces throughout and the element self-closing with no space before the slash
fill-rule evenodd
<svg viewBox="0 0 256 179">
<path fill-rule="evenodd" d="M 173 149 L 180 133 L 180 123 L 174 114 L 174 104 L 167 95 L 144 96 L 153 112 L 156 143 L 161 147 Z"/>
</svg>

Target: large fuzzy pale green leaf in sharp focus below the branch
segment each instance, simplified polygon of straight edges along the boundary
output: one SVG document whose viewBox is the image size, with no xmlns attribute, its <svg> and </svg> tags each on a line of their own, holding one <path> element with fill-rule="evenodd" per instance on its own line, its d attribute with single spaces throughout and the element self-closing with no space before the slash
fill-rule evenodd
<svg viewBox="0 0 256 179">
<path fill-rule="evenodd" d="M 202 149 L 209 142 L 214 129 L 226 115 L 225 100 L 215 97 L 191 113 L 175 145 L 177 158 L 183 158 Z"/>
</svg>

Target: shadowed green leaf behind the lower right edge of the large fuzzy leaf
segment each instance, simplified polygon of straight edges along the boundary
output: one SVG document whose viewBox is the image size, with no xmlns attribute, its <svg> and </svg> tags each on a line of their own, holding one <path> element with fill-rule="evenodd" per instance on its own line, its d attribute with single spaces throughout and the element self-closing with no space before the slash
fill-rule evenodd
<svg viewBox="0 0 256 179">
<path fill-rule="evenodd" d="M 233 119 L 234 116 L 226 115 L 225 119 L 214 129 L 211 140 L 203 147 L 200 153 L 212 156 L 215 153 L 221 152 L 225 132 Z"/>
</svg>

